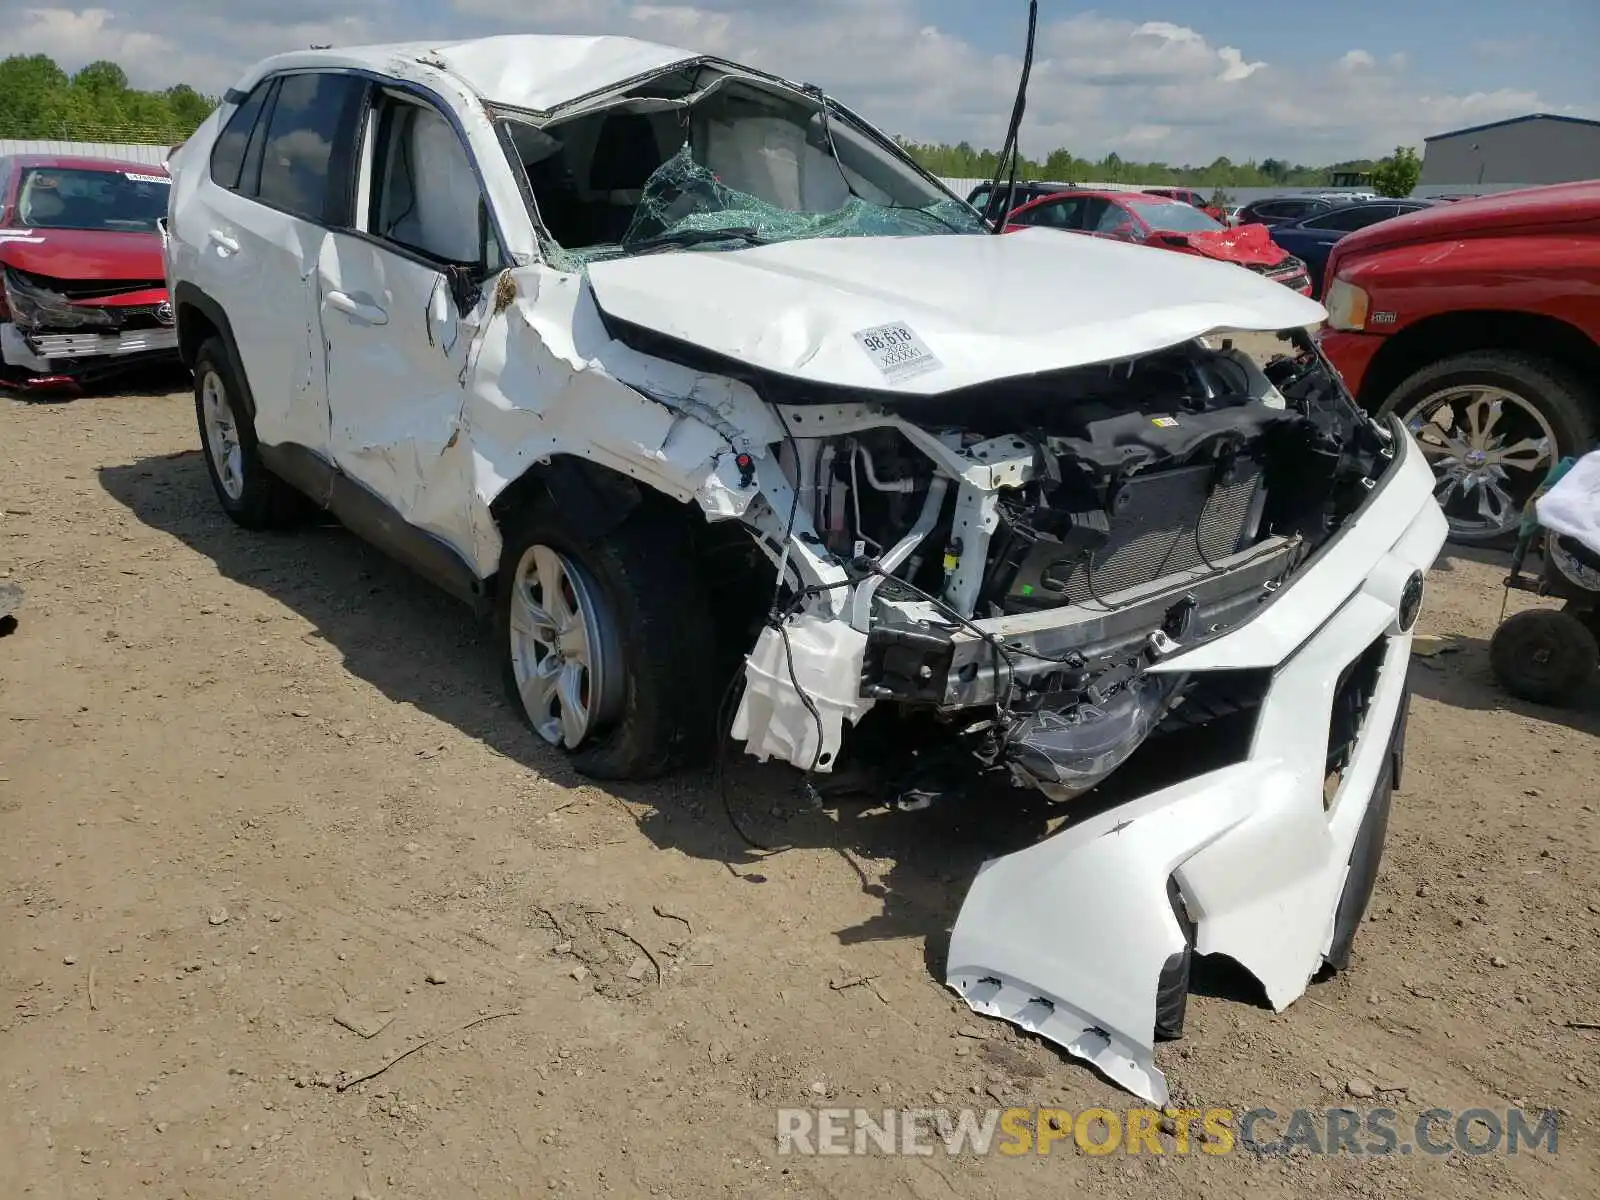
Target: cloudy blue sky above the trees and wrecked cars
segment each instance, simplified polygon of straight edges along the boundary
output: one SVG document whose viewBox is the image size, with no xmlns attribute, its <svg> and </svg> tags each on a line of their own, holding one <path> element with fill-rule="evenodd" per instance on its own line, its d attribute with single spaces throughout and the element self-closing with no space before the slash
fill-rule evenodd
<svg viewBox="0 0 1600 1200">
<path fill-rule="evenodd" d="M 1600 0 L 1040 5 L 1024 149 L 1323 163 L 1525 112 L 1600 118 Z M 309 43 L 627 34 L 821 83 L 893 133 L 998 142 L 1022 0 L 0 0 L 6 51 L 224 88 Z"/>
</svg>

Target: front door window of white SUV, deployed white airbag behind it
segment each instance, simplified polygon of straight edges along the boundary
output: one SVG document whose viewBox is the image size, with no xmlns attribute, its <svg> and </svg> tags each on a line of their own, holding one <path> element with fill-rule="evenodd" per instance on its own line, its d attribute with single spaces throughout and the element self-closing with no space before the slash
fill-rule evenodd
<svg viewBox="0 0 1600 1200">
<path fill-rule="evenodd" d="M 467 147 L 434 107 L 386 99 L 378 122 L 368 227 L 443 262 L 499 266 Z"/>
</svg>

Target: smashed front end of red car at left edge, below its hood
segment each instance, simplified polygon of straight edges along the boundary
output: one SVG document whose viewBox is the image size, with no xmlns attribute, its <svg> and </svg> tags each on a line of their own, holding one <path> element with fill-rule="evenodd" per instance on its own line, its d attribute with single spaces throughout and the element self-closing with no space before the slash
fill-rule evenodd
<svg viewBox="0 0 1600 1200">
<path fill-rule="evenodd" d="M 176 360 L 163 278 L 56 278 L 3 267 L 0 382 L 85 384 L 130 366 Z"/>
</svg>

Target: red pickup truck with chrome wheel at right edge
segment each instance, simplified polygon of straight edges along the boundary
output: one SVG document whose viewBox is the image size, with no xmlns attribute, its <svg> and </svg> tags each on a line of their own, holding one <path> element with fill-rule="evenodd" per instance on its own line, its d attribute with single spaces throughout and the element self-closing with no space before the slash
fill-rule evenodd
<svg viewBox="0 0 1600 1200">
<path fill-rule="evenodd" d="M 1514 539 L 1550 466 L 1600 429 L 1600 181 L 1382 221 L 1325 278 L 1322 349 L 1363 406 L 1405 419 L 1451 536 Z"/>
</svg>

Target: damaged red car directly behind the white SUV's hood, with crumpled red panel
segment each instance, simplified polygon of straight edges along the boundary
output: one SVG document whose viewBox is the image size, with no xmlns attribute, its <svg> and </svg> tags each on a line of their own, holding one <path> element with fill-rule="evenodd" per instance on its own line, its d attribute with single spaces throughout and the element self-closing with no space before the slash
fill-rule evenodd
<svg viewBox="0 0 1600 1200">
<path fill-rule="evenodd" d="M 1229 229 L 1179 200 L 1147 192 L 1062 192 L 1016 208 L 1006 232 L 1024 226 L 1142 242 L 1179 254 L 1214 258 L 1258 270 L 1267 278 L 1310 294 L 1306 264 L 1283 251 L 1264 226 Z"/>
</svg>

